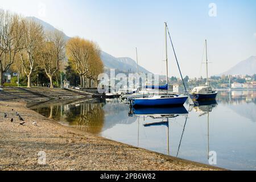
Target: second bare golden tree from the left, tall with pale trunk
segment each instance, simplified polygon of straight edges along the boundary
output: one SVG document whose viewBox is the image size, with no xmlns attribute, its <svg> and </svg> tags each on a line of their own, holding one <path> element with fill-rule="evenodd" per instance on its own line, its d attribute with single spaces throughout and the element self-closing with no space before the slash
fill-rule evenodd
<svg viewBox="0 0 256 182">
<path fill-rule="evenodd" d="M 39 67 L 44 31 L 42 25 L 33 20 L 22 20 L 22 49 L 19 49 L 19 61 L 27 76 L 27 87 L 31 87 L 31 74 Z"/>
</svg>

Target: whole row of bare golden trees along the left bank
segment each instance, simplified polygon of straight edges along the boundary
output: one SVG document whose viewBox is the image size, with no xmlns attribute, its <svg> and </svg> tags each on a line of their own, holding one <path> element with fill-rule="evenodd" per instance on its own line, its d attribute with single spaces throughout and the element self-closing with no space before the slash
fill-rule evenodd
<svg viewBox="0 0 256 182">
<path fill-rule="evenodd" d="M 27 77 L 44 71 L 53 88 L 53 77 L 68 57 L 70 72 L 79 74 L 81 86 L 96 86 L 97 76 L 103 72 L 100 48 L 96 43 L 81 38 L 65 41 L 63 32 L 44 31 L 41 24 L 9 11 L 0 10 L 0 86 L 9 68 Z"/>
</svg>

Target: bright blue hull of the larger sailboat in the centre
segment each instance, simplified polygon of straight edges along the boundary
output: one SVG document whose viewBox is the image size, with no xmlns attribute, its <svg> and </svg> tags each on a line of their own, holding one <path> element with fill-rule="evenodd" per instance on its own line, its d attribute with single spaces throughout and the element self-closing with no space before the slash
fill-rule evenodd
<svg viewBox="0 0 256 182">
<path fill-rule="evenodd" d="M 156 98 L 156 99 L 133 99 L 133 107 L 166 107 L 183 106 L 188 97 Z"/>
</svg>

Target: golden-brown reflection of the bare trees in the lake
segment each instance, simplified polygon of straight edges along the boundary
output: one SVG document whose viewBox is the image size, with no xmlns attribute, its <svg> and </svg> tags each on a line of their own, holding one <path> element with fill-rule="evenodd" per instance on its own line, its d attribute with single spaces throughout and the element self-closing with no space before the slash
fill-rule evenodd
<svg viewBox="0 0 256 182">
<path fill-rule="evenodd" d="M 104 126 L 104 105 L 105 102 L 100 100 L 85 100 L 71 104 L 44 104 L 31 109 L 49 119 L 67 123 L 69 126 L 75 126 L 89 133 L 99 134 Z"/>
</svg>

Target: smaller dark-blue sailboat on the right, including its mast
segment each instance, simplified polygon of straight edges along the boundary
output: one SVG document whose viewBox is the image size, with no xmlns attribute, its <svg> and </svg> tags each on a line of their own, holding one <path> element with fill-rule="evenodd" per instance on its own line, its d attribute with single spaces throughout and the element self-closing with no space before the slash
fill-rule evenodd
<svg viewBox="0 0 256 182">
<path fill-rule="evenodd" d="M 204 100 L 216 100 L 218 92 L 214 91 L 211 86 L 209 86 L 208 79 L 208 55 L 207 55 L 207 40 L 205 40 L 206 47 L 206 64 L 207 64 L 207 86 L 198 86 L 192 90 L 189 97 L 192 100 L 204 101 Z"/>
</svg>

